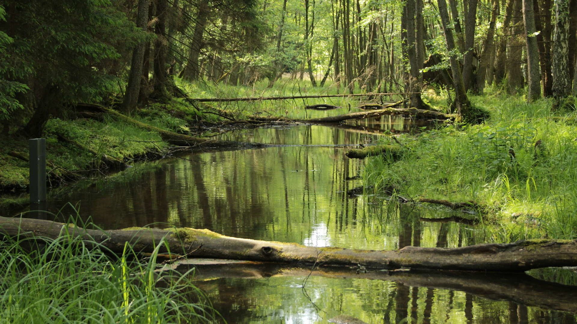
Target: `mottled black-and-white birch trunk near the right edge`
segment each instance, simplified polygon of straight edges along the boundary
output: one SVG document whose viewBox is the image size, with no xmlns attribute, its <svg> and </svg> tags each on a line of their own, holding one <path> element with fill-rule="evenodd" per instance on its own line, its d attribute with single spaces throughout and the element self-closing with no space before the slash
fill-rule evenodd
<svg viewBox="0 0 577 324">
<path fill-rule="evenodd" d="M 569 76 L 569 3 L 555 1 L 555 37 L 553 42 L 553 96 L 556 99 L 571 93 Z"/>
</svg>

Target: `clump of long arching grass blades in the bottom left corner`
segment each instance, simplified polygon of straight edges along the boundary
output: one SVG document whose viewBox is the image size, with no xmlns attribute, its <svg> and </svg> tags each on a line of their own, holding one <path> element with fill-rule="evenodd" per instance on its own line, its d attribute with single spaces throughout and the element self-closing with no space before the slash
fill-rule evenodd
<svg viewBox="0 0 577 324">
<path fill-rule="evenodd" d="M 159 271 L 127 245 L 114 255 L 68 234 L 0 240 L 0 323 L 208 323 L 207 298 L 192 270 Z"/>
</svg>

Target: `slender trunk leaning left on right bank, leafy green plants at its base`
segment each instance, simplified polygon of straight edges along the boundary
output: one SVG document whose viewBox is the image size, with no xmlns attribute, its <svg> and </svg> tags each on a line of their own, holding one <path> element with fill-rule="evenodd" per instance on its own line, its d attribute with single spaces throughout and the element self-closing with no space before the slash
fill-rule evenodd
<svg viewBox="0 0 577 324">
<path fill-rule="evenodd" d="M 455 50 L 455 39 L 453 38 L 453 31 L 449 27 L 449 14 L 447 12 L 447 3 L 445 0 L 437 0 L 439 4 L 439 14 L 443 24 L 443 32 L 445 33 L 445 42 L 447 43 L 447 50 L 449 60 L 451 61 L 451 72 L 453 74 L 453 86 L 455 88 L 455 101 L 452 103 L 452 110 L 456 110 L 457 114 L 464 117 L 466 120 L 470 119 L 470 102 L 467 98 L 467 92 L 463 84 L 463 77 L 461 75 L 461 68 Z"/>
</svg>

